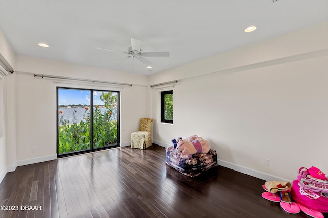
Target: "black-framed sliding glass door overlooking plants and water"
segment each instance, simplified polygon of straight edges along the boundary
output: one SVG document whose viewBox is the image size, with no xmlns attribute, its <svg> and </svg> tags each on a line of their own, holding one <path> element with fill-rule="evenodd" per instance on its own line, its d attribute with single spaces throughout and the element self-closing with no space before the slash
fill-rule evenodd
<svg viewBox="0 0 328 218">
<path fill-rule="evenodd" d="M 119 92 L 57 88 L 58 157 L 119 146 Z"/>
</svg>

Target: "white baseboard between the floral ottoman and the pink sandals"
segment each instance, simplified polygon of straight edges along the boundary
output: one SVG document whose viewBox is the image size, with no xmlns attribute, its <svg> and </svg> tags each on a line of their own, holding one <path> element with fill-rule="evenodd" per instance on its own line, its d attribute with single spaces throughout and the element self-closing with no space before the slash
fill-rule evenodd
<svg viewBox="0 0 328 218">
<path fill-rule="evenodd" d="M 280 178 L 280 177 L 276 177 L 274 175 L 270 175 L 270 174 L 266 174 L 260 171 L 256 171 L 254 169 L 248 168 L 248 167 L 244 167 L 244 166 L 240 166 L 234 163 L 230 163 L 224 160 L 217 160 L 218 164 L 220 166 L 224 166 L 227 167 L 229 169 L 233 169 L 234 171 L 243 173 L 243 174 L 247 174 L 249 176 L 253 176 L 259 179 L 262 179 L 264 181 L 272 181 L 272 180 L 278 180 L 278 181 L 289 181 L 288 179 L 284 179 L 284 178 Z M 291 182 L 291 181 L 289 181 Z"/>
</svg>

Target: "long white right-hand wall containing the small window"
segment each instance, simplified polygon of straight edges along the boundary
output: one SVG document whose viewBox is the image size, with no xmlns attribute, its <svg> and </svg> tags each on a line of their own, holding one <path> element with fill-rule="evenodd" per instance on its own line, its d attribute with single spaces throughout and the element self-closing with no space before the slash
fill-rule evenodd
<svg viewBox="0 0 328 218">
<path fill-rule="evenodd" d="M 173 125 L 157 119 L 151 91 L 153 140 L 171 146 L 197 134 L 219 164 L 267 180 L 294 180 L 302 166 L 328 172 L 327 38 L 325 22 L 150 76 L 179 80 Z"/>
</svg>

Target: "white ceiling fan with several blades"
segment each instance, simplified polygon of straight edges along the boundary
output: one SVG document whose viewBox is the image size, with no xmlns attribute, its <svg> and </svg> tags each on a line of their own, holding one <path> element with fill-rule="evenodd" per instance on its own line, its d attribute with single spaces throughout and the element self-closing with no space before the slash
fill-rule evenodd
<svg viewBox="0 0 328 218">
<path fill-rule="evenodd" d="M 97 47 L 97 49 L 106 50 L 106 51 L 113 51 L 113 52 L 122 52 L 127 54 L 126 57 L 123 59 L 117 60 L 114 63 L 127 59 L 127 58 L 136 58 L 138 61 L 146 64 L 147 66 L 151 65 L 150 60 L 148 60 L 146 57 L 169 57 L 169 52 L 143 52 L 141 50 L 141 41 L 138 39 L 131 38 L 131 47 L 128 48 L 128 51 L 119 51 L 119 50 L 113 50 L 113 49 L 105 49 L 102 47 Z"/>
</svg>

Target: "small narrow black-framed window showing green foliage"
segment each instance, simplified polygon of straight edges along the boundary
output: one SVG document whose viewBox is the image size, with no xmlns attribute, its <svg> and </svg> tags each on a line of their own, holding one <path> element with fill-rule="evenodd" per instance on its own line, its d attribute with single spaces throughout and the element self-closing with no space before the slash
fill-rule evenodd
<svg viewBox="0 0 328 218">
<path fill-rule="evenodd" d="M 173 91 L 160 93 L 161 122 L 173 124 Z"/>
</svg>

